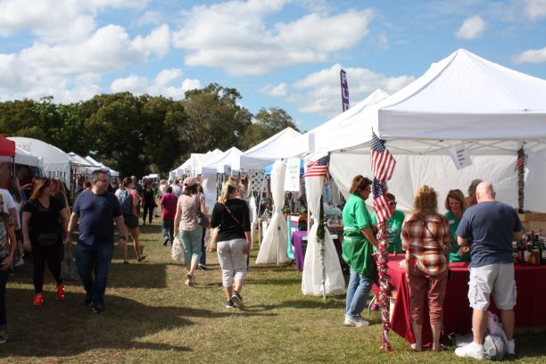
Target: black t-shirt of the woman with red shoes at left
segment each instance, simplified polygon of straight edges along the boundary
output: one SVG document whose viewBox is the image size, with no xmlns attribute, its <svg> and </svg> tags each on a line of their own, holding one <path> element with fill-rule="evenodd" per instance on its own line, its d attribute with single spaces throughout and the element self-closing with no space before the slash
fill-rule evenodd
<svg viewBox="0 0 546 364">
<path fill-rule="evenodd" d="M 36 200 L 29 200 L 23 206 L 23 212 L 30 212 L 29 237 L 36 240 L 38 233 L 61 233 L 62 222 L 59 211 L 64 209 L 64 203 L 54 196 L 49 197 L 49 208 L 42 206 Z"/>
</svg>

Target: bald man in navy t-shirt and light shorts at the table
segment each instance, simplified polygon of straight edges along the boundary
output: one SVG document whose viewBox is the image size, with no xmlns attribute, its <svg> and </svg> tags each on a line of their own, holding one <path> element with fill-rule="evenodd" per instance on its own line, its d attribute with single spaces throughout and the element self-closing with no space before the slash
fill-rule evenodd
<svg viewBox="0 0 546 364">
<path fill-rule="evenodd" d="M 476 187 L 477 204 L 465 211 L 457 228 L 457 243 L 470 249 L 468 301 L 473 309 L 474 342 L 455 350 L 460 357 L 484 359 L 484 334 L 491 294 L 501 310 L 508 338 L 507 353 L 514 354 L 514 306 L 516 281 L 512 241 L 519 240 L 523 227 L 516 210 L 495 201 L 492 184 Z M 469 244 L 472 242 L 472 244 Z"/>
</svg>

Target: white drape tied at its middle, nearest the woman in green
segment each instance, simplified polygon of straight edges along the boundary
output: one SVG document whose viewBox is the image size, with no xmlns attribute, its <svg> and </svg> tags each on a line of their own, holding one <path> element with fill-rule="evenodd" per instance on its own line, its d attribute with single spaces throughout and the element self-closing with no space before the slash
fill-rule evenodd
<svg viewBox="0 0 546 364">
<path fill-rule="evenodd" d="M 310 228 L 307 236 L 307 251 L 303 263 L 302 293 L 322 295 L 322 265 L 320 263 L 320 244 L 317 239 L 318 214 L 320 208 L 320 194 L 324 186 L 324 178 L 305 178 L 305 191 L 310 214 L 314 217 L 315 224 Z M 345 281 L 334 241 L 325 227 L 325 251 L 324 265 L 326 268 L 325 291 L 326 294 L 344 294 Z"/>
</svg>

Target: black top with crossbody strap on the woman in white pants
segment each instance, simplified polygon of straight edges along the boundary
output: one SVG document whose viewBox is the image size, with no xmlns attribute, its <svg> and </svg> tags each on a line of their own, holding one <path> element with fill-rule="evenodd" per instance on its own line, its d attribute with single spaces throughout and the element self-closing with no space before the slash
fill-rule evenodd
<svg viewBox="0 0 546 364">
<path fill-rule="evenodd" d="M 248 205 L 238 198 L 227 200 L 226 205 L 229 211 L 239 220 L 240 224 L 231 217 L 223 204 L 216 203 L 212 209 L 211 227 L 219 226 L 218 241 L 244 239 L 244 232 L 251 231 Z"/>
</svg>

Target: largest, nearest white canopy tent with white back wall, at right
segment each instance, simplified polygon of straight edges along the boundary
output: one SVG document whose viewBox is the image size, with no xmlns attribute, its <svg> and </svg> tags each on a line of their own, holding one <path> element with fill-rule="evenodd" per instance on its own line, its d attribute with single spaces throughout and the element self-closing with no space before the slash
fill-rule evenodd
<svg viewBox="0 0 546 364">
<path fill-rule="evenodd" d="M 401 91 L 344 120 L 331 135 L 343 145 L 316 141 L 315 150 L 333 153 L 330 172 L 347 194 L 354 175 L 370 176 L 373 128 L 398 160 L 390 192 L 411 210 L 418 186 L 434 186 L 442 202 L 448 190 L 465 191 L 474 178 L 492 180 L 498 198 L 515 205 L 513 168 L 524 145 L 530 153 L 525 191 L 533 195 L 525 208 L 544 211 L 546 195 L 538 188 L 546 170 L 538 167 L 546 151 L 545 100 L 546 80 L 460 49 Z M 451 146 L 463 144 L 474 164 L 456 171 L 447 155 Z"/>
</svg>

